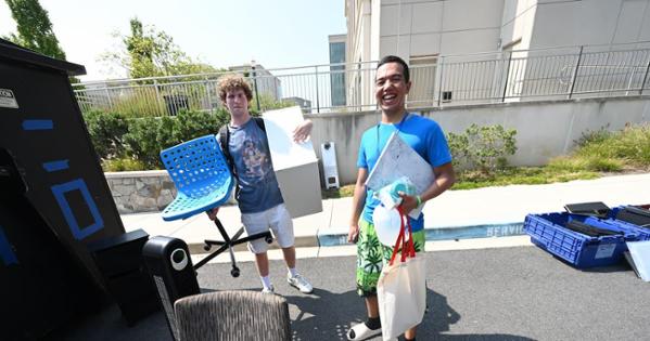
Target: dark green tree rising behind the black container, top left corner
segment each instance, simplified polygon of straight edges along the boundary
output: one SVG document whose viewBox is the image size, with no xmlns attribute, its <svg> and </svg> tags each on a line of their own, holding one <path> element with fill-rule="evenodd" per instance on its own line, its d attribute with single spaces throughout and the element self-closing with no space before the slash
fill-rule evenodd
<svg viewBox="0 0 650 341">
<path fill-rule="evenodd" d="M 17 35 L 10 34 L 9 40 L 29 50 L 58 60 L 65 60 L 65 52 L 52 30 L 52 23 L 38 0 L 5 0 L 11 16 L 16 22 Z"/>
</svg>

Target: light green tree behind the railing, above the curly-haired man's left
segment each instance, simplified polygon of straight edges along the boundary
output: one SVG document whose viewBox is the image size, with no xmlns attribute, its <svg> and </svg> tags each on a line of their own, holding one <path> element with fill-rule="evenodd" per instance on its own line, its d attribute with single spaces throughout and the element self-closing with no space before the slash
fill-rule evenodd
<svg viewBox="0 0 650 341">
<path fill-rule="evenodd" d="M 116 36 L 123 49 L 105 53 L 102 58 L 125 68 L 130 78 L 217 71 L 211 65 L 189 57 L 169 35 L 154 26 L 144 26 L 137 17 L 130 21 L 128 36 Z"/>
</svg>

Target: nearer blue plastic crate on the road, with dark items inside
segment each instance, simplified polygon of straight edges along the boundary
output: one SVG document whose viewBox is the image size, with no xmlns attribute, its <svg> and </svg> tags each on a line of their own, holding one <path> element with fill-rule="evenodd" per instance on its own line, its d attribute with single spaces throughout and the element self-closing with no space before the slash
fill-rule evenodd
<svg viewBox="0 0 650 341">
<path fill-rule="evenodd" d="M 623 235 L 590 237 L 564 227 L 564 224 L 572 220 L 585 222 L 586 218 L 565 212 L 528 214 L 524 221 L 524 232 L 531 236 L 533 244 L 577 268 L 620 262 L 623 252 L 627 250 Z M 587 223 L 619 232 L 614 226 L 602 221 Z"/>
</svg>

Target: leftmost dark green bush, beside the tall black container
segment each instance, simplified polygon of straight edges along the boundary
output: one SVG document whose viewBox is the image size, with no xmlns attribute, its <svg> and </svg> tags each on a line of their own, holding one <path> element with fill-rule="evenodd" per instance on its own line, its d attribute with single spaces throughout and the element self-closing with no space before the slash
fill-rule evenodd
<svg viewBox="0 0 650 341">
<path fill-rule="evenodd" d="M 101 159 L 124 155 L 123 137 L 128 132 L 128 122 L 122 114 L 90 110 L 84 114 L 84 120 Z"/>
</svg>

